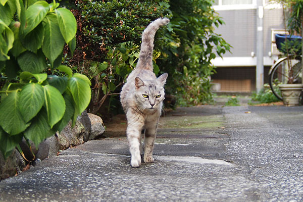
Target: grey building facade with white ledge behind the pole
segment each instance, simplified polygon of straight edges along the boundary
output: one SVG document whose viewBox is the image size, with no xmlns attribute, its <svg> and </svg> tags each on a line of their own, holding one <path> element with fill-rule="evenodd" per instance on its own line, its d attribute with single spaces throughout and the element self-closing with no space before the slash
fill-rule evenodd
<svg viewBox="0 0 303 202">
<path fill-rule="evenodd" d="M 269 0 L 261 5 L 257 5 L 257 0 L 217 0 L 214 9 L 225 22 L 216 28 L 216 33 L 221 34 L 232 48 L 231 53 L 212 61 L 217 67 L 212 82 L 217 84 L 217 91 L 256 91 L 256 54 L 260 47 L 257 32 L 261 29 L 263 32 L 263 76 L 264 83 L 268 83 L 269 69 L 279 55 L 274 34 L 285 33 L 282 6 L 271 4 Z M 257 18 L 261 15 L 263 27 L 260 28 Z"/>
</svg>

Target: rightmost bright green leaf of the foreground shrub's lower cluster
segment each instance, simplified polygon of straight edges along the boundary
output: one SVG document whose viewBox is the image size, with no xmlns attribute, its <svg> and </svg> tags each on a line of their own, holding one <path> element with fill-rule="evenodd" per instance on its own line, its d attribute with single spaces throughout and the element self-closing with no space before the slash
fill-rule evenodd
<svg viewBox="0 0 303 202">
<path fill-rule="evenodd" d="M 75 114 L 81 114 L 90 102 L 90 87 L 87 81 L 79 77 L 71 77 L 68 81 L 68 87 L 72 93 L 75 102 Z"/>
</svg>

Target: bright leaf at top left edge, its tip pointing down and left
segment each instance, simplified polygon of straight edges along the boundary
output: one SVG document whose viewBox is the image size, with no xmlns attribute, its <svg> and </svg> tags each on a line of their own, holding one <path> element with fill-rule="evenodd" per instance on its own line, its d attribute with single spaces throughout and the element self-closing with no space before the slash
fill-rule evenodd
<svg viewBox="0 0 303 202">
<path fill-rule="evenodd" d="M 33 4 L 27 8 L 25 12 L 26 27 L 24 29 L 24 36 L 26 36 L 42 22 L 48 12 L 48 9 L 48 4 L 44 1 L 40 1 L 39 4 Z"/>
</svg>

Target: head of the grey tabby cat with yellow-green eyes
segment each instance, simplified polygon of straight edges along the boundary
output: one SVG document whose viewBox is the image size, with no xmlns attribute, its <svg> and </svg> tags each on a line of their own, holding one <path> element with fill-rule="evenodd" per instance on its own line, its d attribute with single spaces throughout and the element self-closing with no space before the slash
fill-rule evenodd
<svg viewBox="0 0 303 202">
<path fill-rule="evenodd" d="M 168 74 L 164 73 L 157 79 L 142 80 L 135 78 L 135 99 L 138 107 L 142 110 L 155 110 L 162 107 L 164 100 L 164 84 Z"/>
</svg>

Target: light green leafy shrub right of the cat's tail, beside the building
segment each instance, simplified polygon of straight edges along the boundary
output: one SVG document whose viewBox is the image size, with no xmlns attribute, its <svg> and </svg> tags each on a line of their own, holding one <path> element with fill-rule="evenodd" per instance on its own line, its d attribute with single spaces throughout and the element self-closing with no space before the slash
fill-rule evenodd
<svg viewBox="0 0 303 202">
<path fill-rule="evenodd" d="M 224 22 L 212 9 L 213 1 L 178 0 L 170 2 L 173 18 L 166 33 L 169 45 L 163 48 L 157 64 L 168 72 L 166 91 L 177 96 L 178 104 L 210 102 L 211 60 L 229 51 L 230 45 L 214 26 Z M 177 85 L 176 85 L 177 84 Z"/>
</svg>

